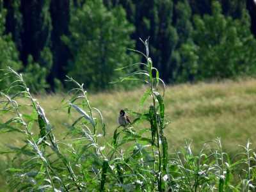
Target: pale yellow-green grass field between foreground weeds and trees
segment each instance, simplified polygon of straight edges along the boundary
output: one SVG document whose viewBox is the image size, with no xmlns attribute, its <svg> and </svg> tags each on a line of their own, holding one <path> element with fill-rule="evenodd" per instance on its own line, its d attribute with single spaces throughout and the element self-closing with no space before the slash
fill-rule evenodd
<svg viewBox="0 0 256 192">
<path fill-rule="evenodd" d="M 144 90 L 147 90 L 145 88 Z M 144 92 L 136 88 L 127 92 L 88 93 L 90 105 L 102 113 L 106 122 L 106 132 L 109 137 L 117 127 L 116 118 L 120 109 L 128 108 L 139 111 L 140 99 Z M 72 124 L 79 114 L 72 111 L 71 119 L 68 120 L 67 109 L 60 109 L 60 101 L 64 95 L 34 95 L 44 108 L 45 115 L 49 118 L 51 125 L 55 125 L 54 132 L 59 134 L 67 132 L 63 122 Z M 145 106 L 140 109 L 143 112 L 149 106 L 146 100 Z M 164 129 L 168 140 L 168 151 L 172 146 L 184 146 L 183 137 L 188 141 L 193 140 L 192 151 L 198 152 L 202 148 L 202 141 L 221 138 L 225 152 L 234 155 L 241 150 L 239 145 L 246 145 L 248 139 L 252 141 L 252 147 L 256 147 L 256 80 L 241 79 L 239 81 L 222 81 L 220 83 L 198 83 L 179 84 L 168 86 L 164 96 L 164 105 L 167 118 L 171 124 Z M 28 113 L 24 109 L 24 113 Z M 96 113 L 96 111 L 95 111 Z M 28 113 L 29 114 L 29 113 Z M 130 115 L 131 120 L 134 117 Z M 10 116 L 1 115 L 0 122 L 6 122 Z M 147 127 L 148 124 L 141 123 L 136 130 Z M 35 127 L 36 129 L 36 127 Z M 35 132 L 37 132 L 35 130 Z M 17 134 L 0 134 L 1 151 L 8 148 L 4 144 L 23 146 L 22 138 Z M 4 170 L 12 166 L 10 159 L 0 155 L 0 183 L 3 191 L 6 191 L 6 173 Z"/>
</svg>

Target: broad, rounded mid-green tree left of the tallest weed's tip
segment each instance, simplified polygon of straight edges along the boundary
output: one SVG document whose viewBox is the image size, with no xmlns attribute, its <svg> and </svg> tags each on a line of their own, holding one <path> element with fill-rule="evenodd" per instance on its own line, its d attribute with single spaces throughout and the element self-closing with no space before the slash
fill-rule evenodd
<svg viewBox="0 0 256 192">
<path fill-rule="evenodd" d="M 83 81 L 86 88 L 101 90 L 116 77 L 114 69 L 129 65 L 138 56 L 127 54 L 134 47 L 129 24 L 122 6 L 108 10 L 102 0 L 86 1 L 70 19 L 70 36 L 62 40 L 70 48 L 68 76 Z"/>
</svg>

